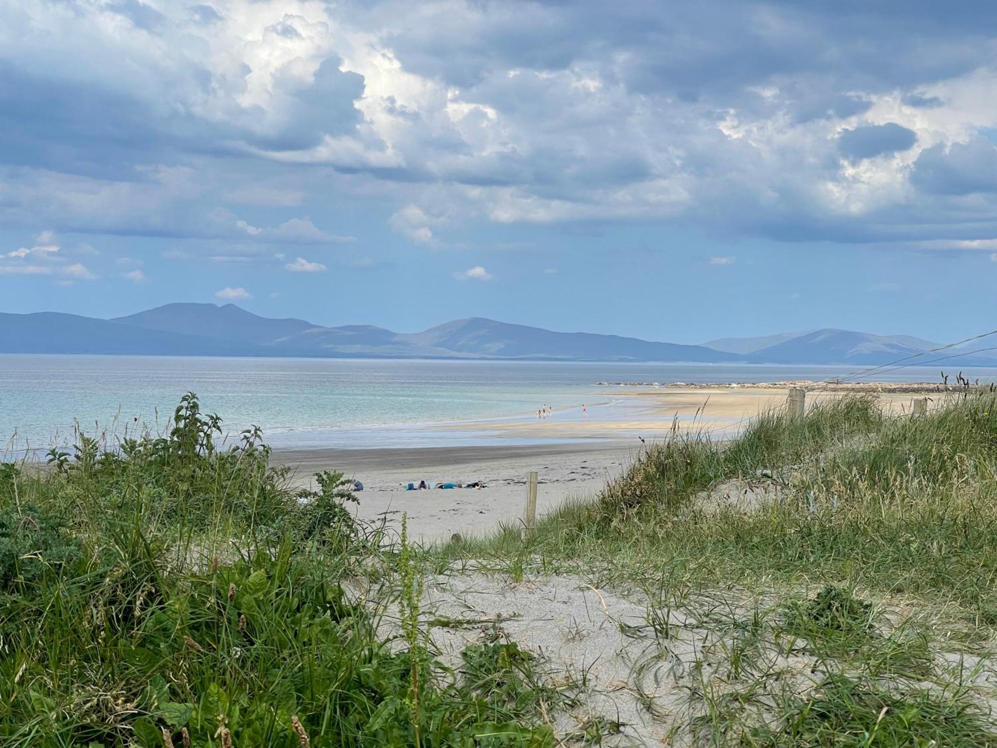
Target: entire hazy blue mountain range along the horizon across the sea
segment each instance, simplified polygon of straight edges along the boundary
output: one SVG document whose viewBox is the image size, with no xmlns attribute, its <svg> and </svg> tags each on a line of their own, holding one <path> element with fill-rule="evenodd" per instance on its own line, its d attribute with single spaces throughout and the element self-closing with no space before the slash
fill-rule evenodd
<svg viewBox="0 0 997 748">
<path fill-rule="evenodd" d="M 303 319 L 261 317 L 234 304 L 166 304 L 114 319 L 59 312 L 0 313 L 0 353 L 874 366 L 935 347 L 930 341 L 908 335 L 836 329 L 680 345 L 618 335 L 553 332 L 481 317 L 447 322 L 423 332 L 399 333 L 372 325 L 326 327 Z M 954 349 L 921 358 L 927 362 L 951 353 L 966 351 Z M 986 354 L 963 355 L 946 363 L 950 361 L 967 367 L 997 364 L 997 358 Z"/>
</svg>

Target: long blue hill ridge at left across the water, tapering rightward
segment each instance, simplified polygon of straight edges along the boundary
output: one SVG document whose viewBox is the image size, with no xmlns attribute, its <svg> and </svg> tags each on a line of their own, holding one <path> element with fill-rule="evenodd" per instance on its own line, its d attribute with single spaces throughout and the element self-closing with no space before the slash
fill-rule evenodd
<svg viewBox="0 0 997 748">
<path fill-rule="evenodd" d="M 618 335 L 553 332 L 472 318 L 424 332 L 371 325 L 324 327 L 303 319 L 271 319 L 234 304 L 166 304 L 94 319 L 73 314 L 6 314 L 3 353 L 494 358 L 557 361 L 723 362 L 740 356 L 695 345 Z"/>
</svg>

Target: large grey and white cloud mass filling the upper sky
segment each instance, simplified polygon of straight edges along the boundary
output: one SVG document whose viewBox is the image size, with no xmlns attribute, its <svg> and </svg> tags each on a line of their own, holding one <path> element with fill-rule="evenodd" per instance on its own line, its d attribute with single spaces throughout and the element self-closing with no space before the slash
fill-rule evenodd
<svg viewBox="0 0 997 748">
<path fill-rule="evenodd" d="M 22 0 L 0 219 L 303 245 L 352 237 L 301 204 L 430 247 L 489 222 L 994 235 L 956 146 L 997 128 L 997 33 L 974 4 L 898 7 Z"/>
</svg>

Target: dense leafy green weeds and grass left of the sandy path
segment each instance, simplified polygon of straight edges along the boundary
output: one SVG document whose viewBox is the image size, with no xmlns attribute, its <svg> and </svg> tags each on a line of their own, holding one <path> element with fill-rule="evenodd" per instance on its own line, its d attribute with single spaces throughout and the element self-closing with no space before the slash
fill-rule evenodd
<svg viewBox="0 0 997 748">
<path fill-rule="evenodd" d="M 0 743 L 552 745 L 525 653 L 434 658 L 413 550 L 341 475 L 294 490 L 258 431 L 219 434 L 187 395 L 162 436 L 2 466 Z"/>
</svg>

